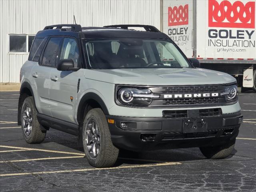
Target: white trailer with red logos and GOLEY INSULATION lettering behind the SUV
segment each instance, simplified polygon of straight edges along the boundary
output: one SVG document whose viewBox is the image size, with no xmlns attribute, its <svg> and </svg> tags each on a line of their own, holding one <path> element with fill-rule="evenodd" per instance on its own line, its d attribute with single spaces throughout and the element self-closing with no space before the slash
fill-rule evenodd
<svg viewBox="0 0 256 192">
<path fill-rule="evenodd" d="M 162 0 L 161 30 L 202 68 L 256 91 L 256 0 Z"/>
</svg>

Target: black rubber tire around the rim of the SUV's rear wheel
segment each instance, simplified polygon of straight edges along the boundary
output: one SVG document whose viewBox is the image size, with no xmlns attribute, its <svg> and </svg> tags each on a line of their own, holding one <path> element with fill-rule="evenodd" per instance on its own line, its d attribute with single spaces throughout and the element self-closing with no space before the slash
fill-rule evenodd
<svg viewBox="0 0 256 192">
<path fill-rule="evenodd" d="M 27 136 L 24 133 L 23 130 L 23 126 L 21 125 L 22 128 L 22 134 L 23 134 L 23 138 L 27 143 L 41 143 L 44 141 L 45 135 L 46 135 L 46 131 L 42 131 L 41 130 L 41 125 L 39 124 L 38 120 L 37 120 L 37 110 L 34 104 L 34 99 L 32 96 L 27 97 L 23 104 L 22 104 L 22 110 L 21 110 L 21 121 L 22 121 L 22 112 L 24 110 L 24 106 L 28 104 L 28 106 L 30 106 L 31 108 L 31 112 L 32 112 L 32 129 L 30 134 Z"/>
</svg>

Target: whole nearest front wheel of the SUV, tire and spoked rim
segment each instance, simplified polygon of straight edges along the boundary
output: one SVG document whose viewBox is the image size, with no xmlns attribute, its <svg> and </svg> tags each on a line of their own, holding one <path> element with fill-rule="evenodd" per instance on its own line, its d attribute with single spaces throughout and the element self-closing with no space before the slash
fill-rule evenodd
<svg viewBox="0 0 256 192">
<path fill-rule="evenodd" d="M 111 167 L 116 163 L 119 150 L 112 144 L 106 116 L 100 108 L 87 113 L 82 136 L 84 152 L 91 166 Z"/>
</svg>

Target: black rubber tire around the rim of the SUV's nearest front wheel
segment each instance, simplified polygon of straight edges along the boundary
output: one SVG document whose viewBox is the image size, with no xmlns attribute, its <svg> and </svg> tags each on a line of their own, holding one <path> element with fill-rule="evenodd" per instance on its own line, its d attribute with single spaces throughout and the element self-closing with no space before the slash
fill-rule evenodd
<svg viewBox="0 0 256 192">
<path fill-rule="evenodd" d="M 86 122 L 90 118 L 94 118 L 94 120 L 96 120 L 96 123 L 98 124 L 98 128 L 100 131 L 100 149 L 96 158 L 93 158 L 89 154 L 86 145 Z M 97 168 L 114 166 L 118 158 L 119 149 L 116 148 L 112 143 L 108 123 L 106 121 L 106 116 L 100 108 L 91 109 L 86 114 L 83 124 L 82 140 L 86 158 L 91 166 Z"/>
</svg>

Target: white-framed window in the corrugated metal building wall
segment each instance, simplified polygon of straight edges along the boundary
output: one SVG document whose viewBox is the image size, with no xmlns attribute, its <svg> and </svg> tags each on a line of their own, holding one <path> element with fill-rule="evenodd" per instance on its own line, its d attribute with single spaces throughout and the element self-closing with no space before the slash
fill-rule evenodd
<svg viewBox="0 0 256 192">
<path fill-rule="evenodd" d="M 34 35 L 10 34 L 9 53 L 29 53 Z"/>
</svg>

